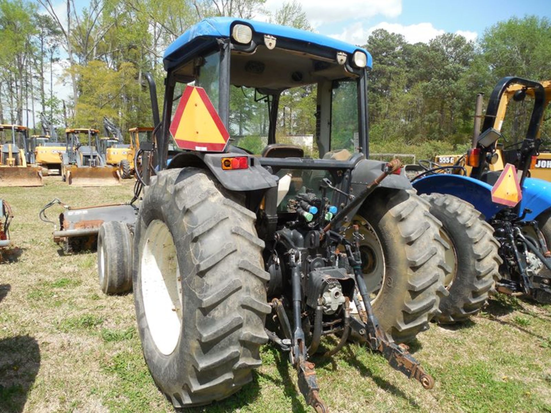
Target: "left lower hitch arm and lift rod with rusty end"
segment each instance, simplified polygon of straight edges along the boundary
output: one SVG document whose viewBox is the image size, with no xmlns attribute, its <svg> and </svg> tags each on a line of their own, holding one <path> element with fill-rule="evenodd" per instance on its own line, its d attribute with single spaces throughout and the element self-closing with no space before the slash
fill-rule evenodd
<svg viewBox="0 0 551 413">
<path fill-rule="evenodd" d="M 306 403 L 314 407 L 318 413 L 327 413 L 328 409 L 318 395 L 320 387 L 317 384 L 314 363 L 307 361 L 306 342 L 301 323 L 302 289 L 300 276 L 300 252 L 289 250 L 289 267 L 291 268 L 291 287 L 293 294 L 293 337 L 291 339 L 291 362 L 298 373 L 300 393 Z"/>
</svg>

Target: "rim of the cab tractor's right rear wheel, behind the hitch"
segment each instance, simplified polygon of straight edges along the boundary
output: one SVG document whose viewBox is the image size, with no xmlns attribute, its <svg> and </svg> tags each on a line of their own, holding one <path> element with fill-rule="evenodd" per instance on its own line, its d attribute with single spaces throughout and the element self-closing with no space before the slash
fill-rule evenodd
<svg viewBox="0 0 551 413">
<path fill-rule="evenodd" d="M 354 216 L 353 224 L 358 224 L 360 233 L 361 272 L 368 287 L 371 305 L 381 296 L 381 286 L 385 282 L 385 254 L 382 244 L 369 222 L 360 215 Z M 352 240 L 352 225 L 346 231 L 348 240 Z"/>
</svg>

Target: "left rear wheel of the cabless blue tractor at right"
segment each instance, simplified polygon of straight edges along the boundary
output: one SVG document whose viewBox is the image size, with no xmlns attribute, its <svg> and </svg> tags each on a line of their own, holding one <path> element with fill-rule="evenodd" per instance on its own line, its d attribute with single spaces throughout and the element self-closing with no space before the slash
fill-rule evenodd
<svg viewBox="0 0 551 413">
<path fill-rule="evenodd" d="M 469 319 L 484 307 L 500 279 L 499 242 L 494 229 L 474 206 L 452 195 L 422 195 L 430 213 L 442 221 L 442 236 L 451 243 L 446 264 L 452 268 L 436 321 L 453 324 Z"/>
</svg>

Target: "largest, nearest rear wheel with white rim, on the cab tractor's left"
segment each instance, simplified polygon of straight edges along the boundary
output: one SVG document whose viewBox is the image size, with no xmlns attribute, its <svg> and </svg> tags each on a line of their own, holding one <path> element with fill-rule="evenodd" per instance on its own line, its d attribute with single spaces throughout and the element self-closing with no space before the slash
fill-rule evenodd
<svg viewBox="0 0 551 413">
<path fill-rule="evenodd" d="M 145 361 L 175 407 L 224 399 L 252 380 L 268 340 L 256 215 L 201 169 L 161 171 L 146 191 L 133 265 Z"/>
</svg>

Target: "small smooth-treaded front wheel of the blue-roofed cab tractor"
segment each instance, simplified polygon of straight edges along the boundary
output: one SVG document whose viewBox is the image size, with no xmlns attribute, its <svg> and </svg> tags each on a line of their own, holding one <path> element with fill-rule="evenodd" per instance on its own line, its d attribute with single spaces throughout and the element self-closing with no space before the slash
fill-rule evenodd
<svg viewBox="0 0 551 413">
<path fill-rule="evenodd" d="M 132 290 L 132 235 L 118 221 L 105 222 L 98 234 L 98 275 L 105 294 Z"/>
</svg>

